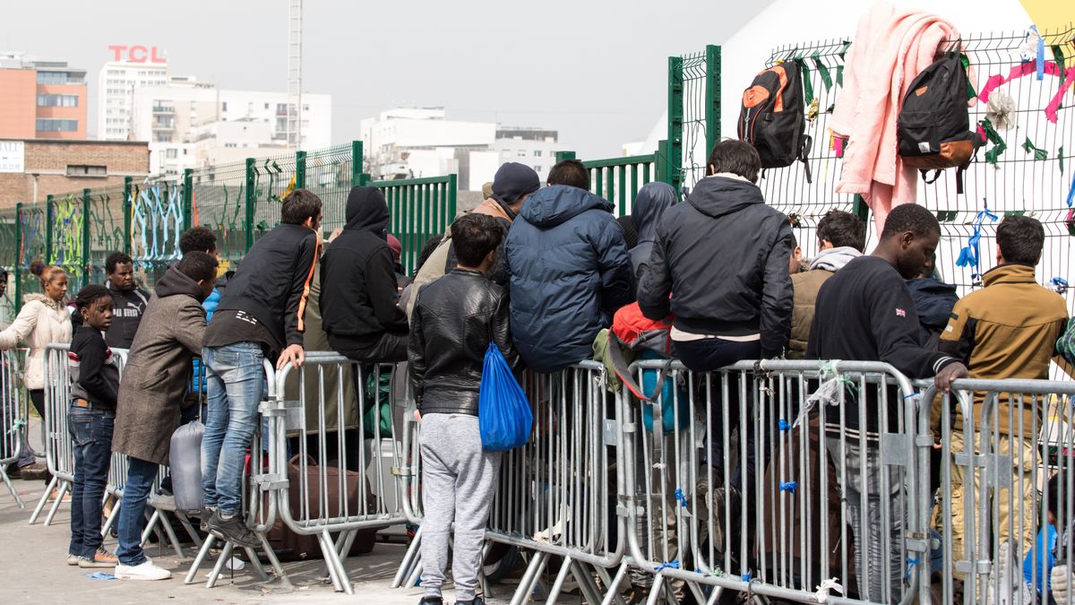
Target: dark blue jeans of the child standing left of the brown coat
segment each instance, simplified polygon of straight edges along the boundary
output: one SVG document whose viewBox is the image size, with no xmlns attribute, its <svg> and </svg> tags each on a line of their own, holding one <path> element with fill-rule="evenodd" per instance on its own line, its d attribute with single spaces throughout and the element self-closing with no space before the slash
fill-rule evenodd
<svg viewBox="0 0 1075 605">
<path fill-rule="evenodd" d="M 71 406 L 68 431 L 74 445 L 71 487 L 71 546 L 68 552 L 92 559 L 101 546 L 101 501 L 112 465 L 116 412 Z"/>
</svg>

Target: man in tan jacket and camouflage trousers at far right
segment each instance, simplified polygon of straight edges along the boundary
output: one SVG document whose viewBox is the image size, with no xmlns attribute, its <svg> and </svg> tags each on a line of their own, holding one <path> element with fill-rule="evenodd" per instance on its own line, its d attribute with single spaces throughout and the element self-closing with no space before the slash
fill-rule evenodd
<svg viewBox="0 0 1075 605">
<path fill-rule="evenodd" d="M 1056 355 L 1057 338 L 1067 322 L 1067 305 L 1063 297 L 1037 284 L 1034 266 L 1042 258 L 1045 229 L 1030 216 L 1005 216 L 997 227 L 997 267 L 983 276 L 985 287 L 972 292 L 956 304 L 948 326 L 941 334 L 941 351 L 966 364 L 971 378 L 1005 380 L 1009 378 L 1047 379 L 1049 360 Z M 1017 399 L 1018 400 L 1018 399 Z M 1009 397 L 1001 394 L 994 413 L 998 419 L 995 453 L 1012 456 L 1012 488 L 998 489 L 993 503 L 998 516 L 991 520 L 998 541 L 1008 540 L 1017 548 L 1022 561 L 1034 543 L 1035 486 L 1031 473 L 1038 465 L 1036 435 L 1032 426 L 1041 426 L 1041 411 L 1030 398 L 1009 409 Z M 958 409 L 958 408 L 957 408 Z M 974 400 L 974 431 L 993 432 L 992 423 L 981 426 L 983 396 Z M 1037 417 L 1036 424 L 1034 417 Z M 970 435 L 978 442 L 978 435 Z M 951 451 L 962 452 L 966 436 L 959 417 L 951 426 Z M 1020 473 L 1023 474 L 1020 481 Z M 980 490 L 980 477 L 975 473 L 973 487 L 968 486 L 964 468 L 951 466 L 952 552 L 963 559 L 963 497 L 970 487 L 977 502 L 988 494 Z M 1014 503 L 1014 505 L 1013 505 Z M 984 531 L 980 520 L 974 522 L 975 534 Z M 977 537 L 975 537 L 977 540 Z M 988 553 L 981 554 L 988 557 Z M 957 574 L 958 575 L 958 574 Z"/>
</svg>

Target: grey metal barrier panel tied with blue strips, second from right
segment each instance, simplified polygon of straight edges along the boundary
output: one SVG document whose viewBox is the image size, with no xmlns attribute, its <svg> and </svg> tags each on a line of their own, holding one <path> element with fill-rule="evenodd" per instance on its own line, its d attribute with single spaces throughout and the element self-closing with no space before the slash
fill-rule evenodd
<svg viewBox="0 0 1075 605">
<path fill-rule="evenodd" d="M 656 386 L 665 367 L 637 362 L 631 371 Z M 906 505 L 917 502 L 907 468 L 917 399 L 906 378 L 864 362 L 669 367 L 653 405 L 627 392 L 622 399 L 621 460 L 631 472 L 621 498 L 636 586 L 651 582 L 654 599 L 666 587 L 700 602 L 715 597 L 708 590 L 911 599 L 917 587 L 905 580 L 918 577 L 924 540 L 905 539 L 923 529 Z M 863 544 L 876 554 L 857 555 L 852 545 Z"/>
</svg>

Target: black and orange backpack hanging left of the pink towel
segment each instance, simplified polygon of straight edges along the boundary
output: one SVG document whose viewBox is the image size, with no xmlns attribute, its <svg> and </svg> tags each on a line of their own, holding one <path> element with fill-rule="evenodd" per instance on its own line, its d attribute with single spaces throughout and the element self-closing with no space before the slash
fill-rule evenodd
<svg viewBox="0 0 1075 605">
<path fill-rule="evenodd" d="M 741 141 L 758 150 L 762 168 L 784 168 L 798 159 L 809 183 L 805 107 L 799 64 L 775 65 L 756 75 L 743 90 L 737 130 Z"/>
</svg>

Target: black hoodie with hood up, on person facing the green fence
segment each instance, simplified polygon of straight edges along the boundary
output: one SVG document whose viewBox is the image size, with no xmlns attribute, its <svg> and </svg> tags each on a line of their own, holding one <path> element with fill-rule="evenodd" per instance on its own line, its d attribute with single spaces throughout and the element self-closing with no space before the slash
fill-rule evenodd
<svg viewBox="0 0 1075 605">
<path fill-rule="evenodd" d="M 353 187 L 347 225 L 321 258 L 321 322 L 334 349 L 362 348 L 384 333 L 407 332 L 397 306 L 388 205 L 376 187 Z"/>
</svg>

